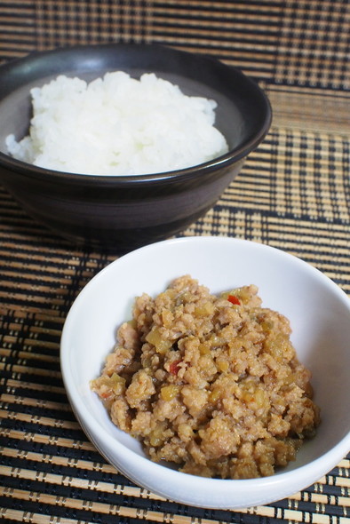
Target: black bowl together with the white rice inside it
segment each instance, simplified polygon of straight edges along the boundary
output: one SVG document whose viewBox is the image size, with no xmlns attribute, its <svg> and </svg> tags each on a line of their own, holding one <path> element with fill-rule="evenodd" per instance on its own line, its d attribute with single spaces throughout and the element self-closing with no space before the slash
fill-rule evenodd
<svg viewBox="0 0 350 524">
<path fill-rule="evenodd" d="M 123 252 L 210 210 L 271 107 L 235 67 L 155 44 L 36 52 L 0 67 L 0 182 L 69 241 Z"/>
</svg>

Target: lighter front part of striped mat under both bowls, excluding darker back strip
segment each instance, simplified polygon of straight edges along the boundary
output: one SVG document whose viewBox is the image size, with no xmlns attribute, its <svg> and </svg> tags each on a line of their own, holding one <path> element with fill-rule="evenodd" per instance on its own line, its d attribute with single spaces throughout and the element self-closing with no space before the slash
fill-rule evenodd
<svg viewBox="0 0 350 524">
<path fill-rule="evenodd" d="M 266 139 L 214 208 L 179 236 L 269 244 L 316 266 L 349 294 L 349 129 L 344 116 L 333 116 L 346 115 L 339 108 L 347 100 L 313 93 L 311 118 L 305 94 L 267 86 L 266 93 L 274 108 Z M 0 189 L 0 520 L 348 520 L 349 457 L 305 491 L 240 512 L 163 500 L 107 464 L 69 407 L 60 333 L 78 292 L 114 259 L 55 237 Z"/>
</svg>

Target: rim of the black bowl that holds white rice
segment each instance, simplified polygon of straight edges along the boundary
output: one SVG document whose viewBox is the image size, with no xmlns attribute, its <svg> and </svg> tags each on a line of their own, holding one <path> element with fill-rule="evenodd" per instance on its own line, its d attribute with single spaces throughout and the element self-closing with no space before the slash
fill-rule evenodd
<svg viewBox="0 0 350 524">
<path fill-rule="evenodd" d="M 264 112 L 265 112 L 265 119 L 260 127 L 259 131 L 257 131 L 249 140 L 246 140 L 243 142 L 243 144 L 240 147 L 235 147 L 234 149 L 227 152 L 225 155 L 220 155 L 214 159 L 212 159 L 209 162 L 206 163 L 200 163 L 196 164 L 194 166 L 190 166 L 185 169 L 175 170 L 175 171 L 163 171 L 159 173 L 150 173 L 150 174 L 143 174 L 143 175 L 89 175 L 86 173 L 76 173 L 76 172 L 69 172 L 69 171 L 56 171 L 51 170 L 43 167 L 36 166 L 31 163 L 25 163 L 20 160 L 17 160 L 13 158 L 11 155 L 5 155 L 4 153 L 0 152 L 0 167 L 6 168 L 10 171 L 20 171 L 23 175 L 28 175 L 32 178 L 39 178 L 44 179 L 47 181 L 48 175 L 51 177 L 52 181 L 55 180 L 58 181 L 65 181 L 66 183 L 73 183 L 73 184 L 87 184 L 87 185 L 97 185 L 97 186 L 129 186 L 129 185 L 135 185 L 135 184 L 147 184 L 153 181 L 163 181 L 163 180 L 182 180 L 182 179 L 191 179 L 194 176 L 197 176 L 199 172 L 203 175 L 204 173 L 211 173 L 212 171 L 218 171 L 221 169 L 229 168 L 229 166 L 233 163 L 236 163 L 242 159 L 244 159 L 247 155 L 251 153 L 256 147 L 259 146 L 259 143 L 266 137 L 267 132 L 269 131 L 269 128 L 271 126 L 272 122 L 272 108 L 269 99 L 266 96 L 266 93 L 260 88 L 259 84 L 251 79 L 248 75 L 245 75 L 243 71 L 237 67 L 229 66 L 222 62 L 219 59 L 216 59 L 214 57 L 211 57 L 209 55 L 206 55 L 204 53 L 194 53 L 194 52 L 186 52 L 179 50 L 175 47 L 163 45 L 163 44 L 147 44 L 147 43 L 109 43 L 109 44 L 88 44 L 88 45 L 74 45 L 74 46 L 66 46 L 66 47 L 58 47 L 55 49 L 51 49 L 48 51 L 43 52 L 30 52 L 24 57 L 20 57 L 19 59 L 11 60 L 10 62 L 7 62 L 0 66 L 0 74 L 2 71 L 9 71 L 12 69 L 12 67 L 17 67 L 19 63 L 26 63 L 27 61 L 30 62 L 32 60 L 36 60 L 36 58 L 43 57 L 43 56 L 55 56 L 58 53 L 72 53 L 76 51 L 83 51 L 84 52 L 90 52 L 90 51 L 103 51 L 104 49 L 115 49 L 115 48 L 143 48 L 143 49 L 164 49 L 168 52 L 177 53 L 180 55 L 191 55 L 192 57 L 197 57 L 201 60 L 207 60 L 214 62 L 216 64 L 216 67 L 221 67 L 224 69 L 231 69 L 235 71 L 235 74 L 240 76 L 243 80 L 243 82 L 249 84 L 251 88 L 256 92 L 256 94 L 259 96 L 259 102 L 262 104 Z M 63 73 L 62 73 L 63 74 Z M 25 172 L 24 172 L 25 170 Z"/>
</svg>

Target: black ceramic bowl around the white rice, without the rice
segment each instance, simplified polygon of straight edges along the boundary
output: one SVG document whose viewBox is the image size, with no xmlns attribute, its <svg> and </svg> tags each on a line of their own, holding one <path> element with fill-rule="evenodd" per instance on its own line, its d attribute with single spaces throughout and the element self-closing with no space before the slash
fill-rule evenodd
<svg viewBox="0 0 350 524">
<path fill-rule="evenodd" d="M 107 71 L 153 72 L 188 95 L 218 102 L 216 126 L 229 152 L 188 169 L 135 176 L 91 176 L 22 163 L 5 139 L 28 134 L 29 90 L 57 75 L 87 81 Z M 259 86 L 234 67 L 154 44 L 78 46 L 30 54 L 0 67 L 0 182 L 28 214 L 73 242 L 115 251 L 176 234 L 201 217 L 241 170 L 271 123 Z"/>
</svg>

